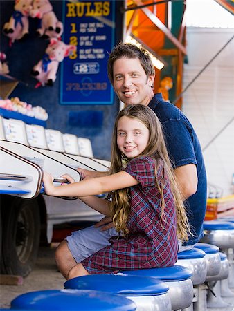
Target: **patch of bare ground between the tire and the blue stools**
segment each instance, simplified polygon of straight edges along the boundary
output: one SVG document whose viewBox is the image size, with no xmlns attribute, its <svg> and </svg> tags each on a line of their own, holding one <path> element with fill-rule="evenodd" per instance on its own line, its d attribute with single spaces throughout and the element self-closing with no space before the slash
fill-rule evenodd
<svg viewBox="0 0 234 311">
<path fill-rule="evenodd" d="M 55 247 L 40 247 L 37 263 L 22 285 L 0 285 L 0 310 L 10 308 L 16 296 L 26 292 L 62 289 L 66 281 L 55 265 Z"/>
</svg>

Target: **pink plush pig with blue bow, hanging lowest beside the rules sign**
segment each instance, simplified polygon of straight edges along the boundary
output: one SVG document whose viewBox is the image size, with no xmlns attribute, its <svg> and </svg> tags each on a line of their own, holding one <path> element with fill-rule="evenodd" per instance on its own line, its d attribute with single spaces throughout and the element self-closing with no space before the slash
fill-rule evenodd
<svg viewBox="0 0 234 311">
<path fill-rule="evenodd" d="M 64 57 L 69 56 L 76 51 L 76 46 L 64 44 L 59 39 L 51 39 L 46 48 L 44 57 L 33 67 L 32 75 L 39 81 L 38 86 L 53 86 L 56 79 L 57 68 Z"/>
</svg>

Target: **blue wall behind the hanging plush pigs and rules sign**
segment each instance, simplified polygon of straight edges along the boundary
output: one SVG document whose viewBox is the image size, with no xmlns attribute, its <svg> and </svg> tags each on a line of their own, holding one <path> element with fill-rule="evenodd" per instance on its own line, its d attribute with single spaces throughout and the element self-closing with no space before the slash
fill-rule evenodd
<svg viewBox="0 0 234 311">
<path fill-rule="evenodd" d="M 37 20 L 30 18 L 30 35 L 27 39 L 15 41 L 12 47 L 8 44 L 8 37 L 2 34 L 3 24 L 6 23 L 13 12 L 15 1 L 0 1 L 0 28 L 1 48 L 7 55 L 10 75 L 20 80 L 20 83 L 10 97 L 19 97 L 33 106 L 42 106 L 48 112 L 47 127 L 57 129 L 62 133 L 72 133 L 80 137 L 89 138 L 96 158 L 109 160 L 111 131 L 114 117 L 119 109 L 117 98 L 111 105 L 66 105 L 60 104 L 60 68 L 57 79 L 52 87 L 45 86 L 35 89 L 37 80 L 31 77 L 30 71 L 44 55 L 48 41 L 35 35 Z M 62 20 L 62 1 L 51 1 L 58 19 Z M 116 27 L 115 41 L 121 38 L 120 6 L 122 1 L 116 1 Z M 66 42 L 68 43 L 68 42 Z M 108 53 L 107 51 L 106 53 Z M 75 112 L 75 119 L 69 117 Z M 92 119 L 93 118 L 93 119 Z M 91 121 L 92 120 L 92 121 Z"/>
</svg>

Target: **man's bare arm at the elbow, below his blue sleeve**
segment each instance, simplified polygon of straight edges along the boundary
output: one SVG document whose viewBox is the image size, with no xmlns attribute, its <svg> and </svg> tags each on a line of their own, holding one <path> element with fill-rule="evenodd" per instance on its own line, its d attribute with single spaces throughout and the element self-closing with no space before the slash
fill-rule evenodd
<svg viewBox="0 0 234 311">
<path fill-rule="evenodd" d="M 186 200 L 197 191 L 197 167 L 195 164 L 187 164 L 174 169 L 177 185 Z"/>
</svg>

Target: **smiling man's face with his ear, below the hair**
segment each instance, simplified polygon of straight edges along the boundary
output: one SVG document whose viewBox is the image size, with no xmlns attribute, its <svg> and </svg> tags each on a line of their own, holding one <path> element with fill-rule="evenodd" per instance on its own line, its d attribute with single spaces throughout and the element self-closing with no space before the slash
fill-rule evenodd
<svg viewBox="0 0 234 311">
<path fill-rule="evenodd" d="M 147 106 L 154 92 L 154 76 L 147 77 L 138 58 L 120 58 L 113 65 L 113 87 L 118 98 L 126 105 Z"/>
</svg>

